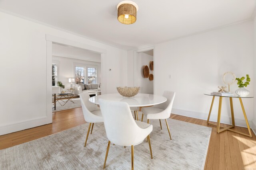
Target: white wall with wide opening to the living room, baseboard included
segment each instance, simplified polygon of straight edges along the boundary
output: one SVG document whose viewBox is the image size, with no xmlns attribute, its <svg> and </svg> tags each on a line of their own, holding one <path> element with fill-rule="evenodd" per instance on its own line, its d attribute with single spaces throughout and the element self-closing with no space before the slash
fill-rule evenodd
<svg viewBox="0 0 256 170">
<path fill-rule="evenodd" d="M 51 123 L 46 113 L 46 34 L 105 49 L 105 93 L 127 84 L 125 50 L 4 12 L 0 23 L 0 77 L 8 82 L 0 85 L 0 135 Z"/>
</svg>

